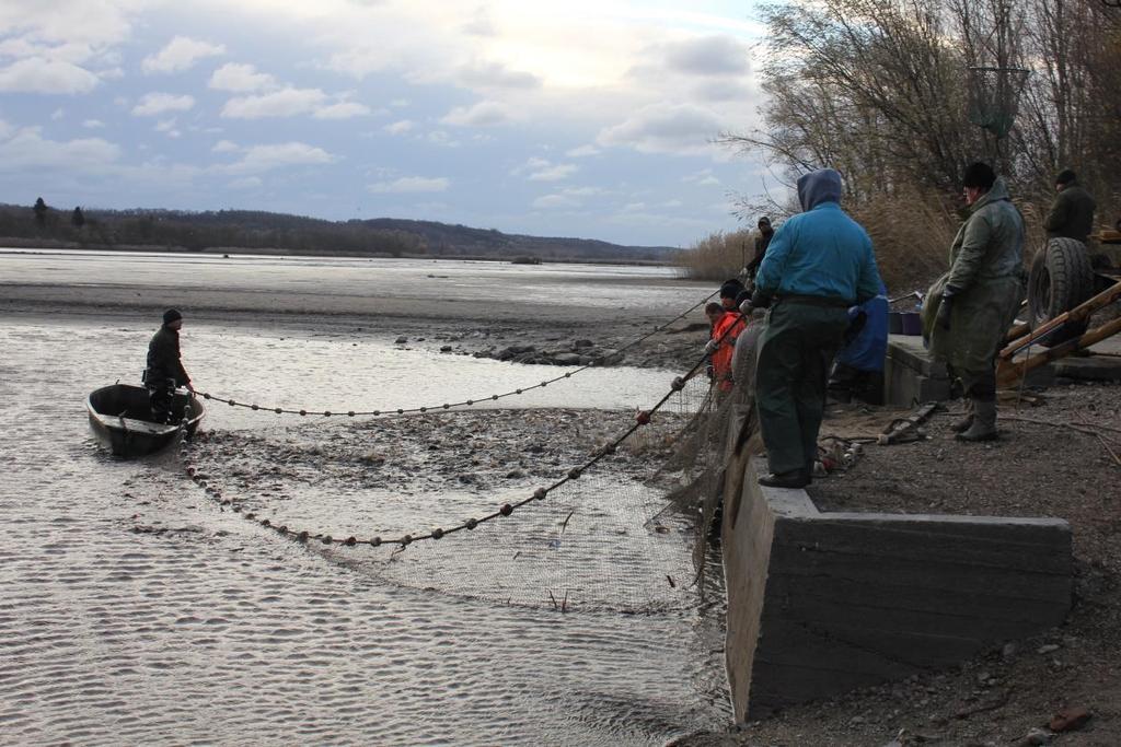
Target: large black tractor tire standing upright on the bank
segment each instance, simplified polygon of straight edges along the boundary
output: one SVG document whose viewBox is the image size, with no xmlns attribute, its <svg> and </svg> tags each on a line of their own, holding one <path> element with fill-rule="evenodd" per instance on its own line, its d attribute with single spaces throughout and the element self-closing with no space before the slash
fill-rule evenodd
<svg viewBox="0 0 1121 747">
<path fill-rule="evenodd" d="M 1049 239 L 1031 261 L 1028 276 L 1028 315 L 1036 328 L 1069 311 L 1094 295 L 1094 271 L 1086 245 L 1076 239 Z M 1054 347 L 1081 337 L 1088 321 L 1068 321 L 1047 334 L 1040 345 Z"/>
</svg>

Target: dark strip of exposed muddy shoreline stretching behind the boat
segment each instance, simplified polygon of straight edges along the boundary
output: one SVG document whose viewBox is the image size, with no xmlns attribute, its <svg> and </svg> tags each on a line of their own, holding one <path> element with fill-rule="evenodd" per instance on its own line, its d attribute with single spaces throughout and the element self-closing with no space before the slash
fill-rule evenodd
<svg viewBox="0 0 1121 747">
<path fill-rule="evenodd" d="M 309 334 L 359 335 L 406 348 L 535 365 L 628 365 L 687 370 L 700 358 L 708 324 L 702 308 L 683 318 L 665 309 L 641 318 L 601 309 L 509 301 L 492 304 L 368 298 L 334 293 L 198 292 L 133 287 L 0 283 L 0 317 L 91 317 L 106 324 L 156 320 L 167 307 L 192 319 Z M 711 292 L 697 286 L 697 301 Z M 158 297 L 158 300 L 156 298 Z M 686 307 L 687 308 L 687 307 Z M 621 317 L 621 318 L 620 318 Z M 659 332 L 659 328 L 665 327 Z M 189 329 L 189 326 L 188 326 Z M 646 339 L 639 339 L 639 338 Z"/>
</svg>

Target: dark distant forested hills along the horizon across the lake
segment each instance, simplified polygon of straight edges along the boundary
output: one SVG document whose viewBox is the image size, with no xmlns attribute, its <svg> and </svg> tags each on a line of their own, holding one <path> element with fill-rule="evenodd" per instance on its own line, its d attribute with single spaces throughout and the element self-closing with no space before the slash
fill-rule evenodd
<svg viewBox="0 0 1121 747">
<path fill-rule="evenodd" d="M 432 221 L 323 221 L 258 211 L 56 208 L 0 204 L 0 243 L 73 249 L 164 249 L 349 256 L 447 256 L 511 261 L 669 262 L 668 246 L 504 234 Z"/>
</svg>

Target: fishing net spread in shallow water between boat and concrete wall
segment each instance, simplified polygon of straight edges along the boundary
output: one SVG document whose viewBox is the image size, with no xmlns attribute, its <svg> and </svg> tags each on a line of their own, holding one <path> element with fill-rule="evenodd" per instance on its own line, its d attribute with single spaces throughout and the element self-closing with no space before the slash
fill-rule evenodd
<svg viewBox="0 0 1121 747">
<path fill-rule="evenodd" d="M 705 376 L 684 382 L 618 443 L 634 413 L 471 410 L 217 431 L 195 439 L 189 464 L 268 531 L 306 532 L 308 548 L 393 585 L 565 611 L 679 609 L 698 599 L 698 514 L 713 510 L 694 498 L 713 495 L 731 407 L 710 389 Z M 612 443 L 543 501 L 374 547 L 516 505 Z"/>
</svg>

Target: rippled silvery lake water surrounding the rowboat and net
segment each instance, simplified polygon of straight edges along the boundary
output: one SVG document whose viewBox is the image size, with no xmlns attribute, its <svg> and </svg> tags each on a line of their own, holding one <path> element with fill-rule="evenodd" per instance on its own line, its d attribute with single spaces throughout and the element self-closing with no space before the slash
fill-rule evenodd
<svg viewBox="0 0 1121 747">
<path fill-rule="evenodd" d="M 83 274 L 115 261 L 85 259 Z M 174 459 L 106 457 L 82 399 L 136 380 L 152 332 L 112 324 L 0 317 L 6 741 L 646 745 L 728 718 L 712 615 L 559 615 L 402 588 L 219 513 Z M 438 403 L 557 371 L 201 324 L 184 356 L 209 390 L 333 409 Z M 671 376 L 586 372 L 524 402 L 629 409 Z M 207 417 L 213 431 L 282 427 L 217 405 Z"/>
</svg>

